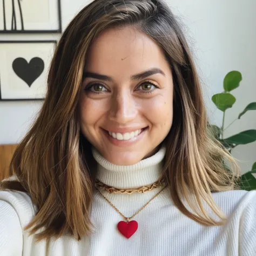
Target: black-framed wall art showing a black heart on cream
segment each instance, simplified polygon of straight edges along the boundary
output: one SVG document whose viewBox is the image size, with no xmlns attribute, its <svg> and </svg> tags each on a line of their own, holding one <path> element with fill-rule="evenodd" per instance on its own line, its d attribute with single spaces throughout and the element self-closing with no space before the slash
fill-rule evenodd
<svg viewBox="0 0 256 256">
<path fill-rule="evenodd" d="M 0 42 L 0 100 L 44 99 L 56 41 Z"/>
</svg>

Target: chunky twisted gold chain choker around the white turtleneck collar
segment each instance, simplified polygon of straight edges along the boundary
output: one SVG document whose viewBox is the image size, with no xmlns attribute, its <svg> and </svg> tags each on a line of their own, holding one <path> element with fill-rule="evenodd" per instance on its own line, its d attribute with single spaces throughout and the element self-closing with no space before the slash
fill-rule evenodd
<svg viewBox="0 0 256 256">
<path fill-rule="evenodd" d="M 112 193 L 132 194 L 134 192 L 145 193 L 147 191 L 153 190 L 153 188 L 157 188 L 159 186 L 165 186 L 166 184 L 167 184 L 166 179 L 163 178 L 163 179 L 158 180 L 155 183 L 147 185 L 147 186 L 128 189 L 128 190 L 123 190 L 123 189 L 119 189 L 119 188 L 116 188 L 116 187 L 107 186 L 106 184 L 102 183 L 99 180 L 95 181 L 95 187 L 96 188 L 103 188 L 105 191 L 109 192 L 110 194 L 112 194 Z"/>
</svg>

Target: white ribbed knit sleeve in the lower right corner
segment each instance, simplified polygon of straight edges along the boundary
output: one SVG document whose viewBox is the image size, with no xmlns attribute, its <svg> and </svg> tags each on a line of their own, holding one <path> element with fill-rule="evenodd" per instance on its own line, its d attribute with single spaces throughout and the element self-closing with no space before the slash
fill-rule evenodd
<svg viewBox="0 0 256 256">
<path fill-rule="evenodd" d="M 256 191 L 250 191 L 244 197 L 245 205 L 240 218 L 239 255 L 256 255 Z"/>
</svg>

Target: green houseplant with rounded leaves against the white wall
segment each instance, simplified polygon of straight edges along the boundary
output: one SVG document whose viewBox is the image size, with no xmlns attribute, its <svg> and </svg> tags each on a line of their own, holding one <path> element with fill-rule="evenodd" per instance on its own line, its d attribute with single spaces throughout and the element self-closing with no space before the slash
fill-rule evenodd
<svg viewBox="0 0 256 256">
<path fill-rule="evenodd" d="M 224 121 L 225 121 L 225 114 L 227 109 L 230 109 L 233 104 L 235 103 L 235 97 L 230 93 L 232 90 L 239 87 L 240 82 L 242 80 L 242 75 L 239 71 L 231 71 L 227 73 L 224 78 L 224 92 L 215 94 L 212 96 L 212 101 L 217 106 L 217 108 L 223 111 L 223 123 L 221 127 L 217 125 L 210 125 L 208 127 L 211 129 L 214 134 L 214 137 L 219 140 L 219 142 L 231 153 L 234 147 L 238 145 L 245 145 L 248 143 L 252 143 L 256 141 L 256 130 L 246 130 L 242 131 L 238 134 L 235 134 L 229 138 L 223 138 L 224 130 L 230 127 L 236 120 L 240 119 L 247 111 L 256 110 L 256 102 L 252 102 L 248 104 L 245 109 L 239 113 L 238 118 L 235 119 L 230 125 L 224 129 Z M 225 162 L 224 162 L 225 165 Z M 228 167 L 225 165 L 227 170 Z M 230 171 L 230 170 L 229 170 Z M 253 176 L 253 173 L 256 173 L 256 162 L 252 166 L 252 170 L 244 173 L 240 180 L 239 186 L 242 190 L 256 190 L 256 179 Z"/>
</svg>

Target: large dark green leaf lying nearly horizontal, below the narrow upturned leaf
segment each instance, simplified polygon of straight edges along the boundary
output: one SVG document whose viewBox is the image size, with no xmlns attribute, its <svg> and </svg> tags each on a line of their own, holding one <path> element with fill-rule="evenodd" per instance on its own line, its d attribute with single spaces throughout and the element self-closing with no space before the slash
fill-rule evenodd
<svg viewBox="0 0 256 256">
<path fill-rule="evenodd" d="M 256 130 L 247 130 L 247 131 L 235 134 L 227 139 L 224 139 L 224 142 L 226 142 L 227 144 L 244 145 L 244 144 L 255 142 L 255 140 L 256 140 Z"/>
</svg>

